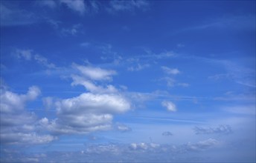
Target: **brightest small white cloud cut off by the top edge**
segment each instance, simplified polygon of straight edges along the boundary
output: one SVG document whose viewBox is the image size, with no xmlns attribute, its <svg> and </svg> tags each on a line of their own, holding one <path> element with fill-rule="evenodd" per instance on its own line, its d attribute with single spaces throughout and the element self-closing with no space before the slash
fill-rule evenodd
<svg viewBox="0 0 256 163">
<path fill-rule="evenodd" d="M 65 4 L 71 10 L 74 10 L 81 15 L 86 12 L 87 6 L 84 1 L 80 0 L 60 0 L 61 3 Z"/>
</svg>

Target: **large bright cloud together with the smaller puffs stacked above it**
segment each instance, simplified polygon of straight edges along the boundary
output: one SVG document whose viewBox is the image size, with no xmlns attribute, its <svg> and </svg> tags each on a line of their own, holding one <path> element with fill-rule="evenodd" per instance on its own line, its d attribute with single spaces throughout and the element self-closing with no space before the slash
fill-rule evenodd
<svg viewBox="0 0 256 163">
<path fill-rule="evenodd" d="M 129 101 L 111 84 L 114 70 L 100 67 L 72 64 L 74 73 L 72 85 L 81 84 L 88 90 L 80 96 L 69 99 L 56 99 L 54 107 L 56 119 L 40 120 L 40 124 L 54 134 L 84 134 L 97 130 L 111 130 L 115 114 L 124 113 L 131 108 Z M 45 99 L 45 105 L 52 104 L 52 99 Z M 124 125 L 117 125 L 118 130 L 129 130 Z"/>
</svg>

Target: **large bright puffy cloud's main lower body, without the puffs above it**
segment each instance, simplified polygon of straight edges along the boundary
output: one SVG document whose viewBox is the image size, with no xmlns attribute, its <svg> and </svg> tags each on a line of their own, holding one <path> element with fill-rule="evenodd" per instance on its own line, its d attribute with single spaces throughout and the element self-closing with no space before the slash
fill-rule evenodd
<svg viewBox="0 0 256 163">
<path fill-rule="evenodd" d="M 56 102 L 57 119 L 41 119 L 42 126 L 53 133 L 90 133 L 109 130 L 113 114 L 124 113 L 130 104 L 117 94 L 83 93 L 80 96 Z"/>
</svg>

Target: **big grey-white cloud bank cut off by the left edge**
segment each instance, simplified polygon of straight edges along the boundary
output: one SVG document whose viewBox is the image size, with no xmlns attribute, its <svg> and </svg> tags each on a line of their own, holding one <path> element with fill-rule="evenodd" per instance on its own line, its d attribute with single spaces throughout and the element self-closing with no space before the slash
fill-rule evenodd
<svg viewBox="0 0 256 163">
<path fill-rule="evenodd" d="M 26 94 L 1 90 L 1 142 L 4 144 L 42 144 L 56 139 L 36 133 L 37 119 L 25 110 L 26 102 L 39 96 L 38 87 L 30 87 Z"/>
</svg>

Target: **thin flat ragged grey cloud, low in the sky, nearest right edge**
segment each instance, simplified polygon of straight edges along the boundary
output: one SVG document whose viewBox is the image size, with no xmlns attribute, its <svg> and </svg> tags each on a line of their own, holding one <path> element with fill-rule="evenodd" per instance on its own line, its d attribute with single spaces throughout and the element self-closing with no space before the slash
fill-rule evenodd
<svg viewBox="0 0 256 163">
<path fill-rule="evenodd" d="M 211 134 L 211 133 L 220 133 L 220 134 L 229 134 L 232 133 L 231 127 L 229 125 L 219 125 L 218 127 L 194 127 L 193 130 L 196 134 Z"/>
</svg>

